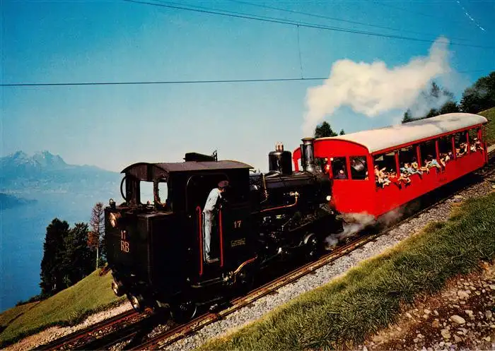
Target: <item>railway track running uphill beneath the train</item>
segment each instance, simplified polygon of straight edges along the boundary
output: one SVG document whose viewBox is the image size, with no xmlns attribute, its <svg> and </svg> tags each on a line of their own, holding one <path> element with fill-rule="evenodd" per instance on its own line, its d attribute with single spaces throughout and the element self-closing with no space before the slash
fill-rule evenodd
<svg viewBox="0 0 495 351">
<path fill-rule="evenodd" d="M 477 174 L 483 178 L 494 174 L 494 161 L 495 150 L 489 153 L 489 164 L 483 169 L 480 169 Z M 467 189 L 467 187 L 472 184 L 474 184 L 474 182 L 469 182 L 465 186 L 460 186 L 459 189 L 455 189 L 455 191 L 451 191 L 451 194 L 444 196 L 441 201 L 431 203 L 431 205 L 426 206 L 426 208 L 414 213 L 413 215 L 409 215 L 404 220 L 385 228 L 385 230 L 366 234 L 353 242 L 349 242 L 338 247 L 337 249 L 334 249 L 334 251 L 330 252 L 330 254 L 326 254 L 325 256 L 319 258 L 318 261 L 307 263 L 296 270 L 276 278 L 276 280 L 273 280 L 272 282 L 268 282 L 267 284 L 252 290 L 252 292 L 244 297 L 238 297 L 231 300 L 231 302 L 228 303 L 228 307 L 222 309 L 221 311 L 203 314 L 189 323 L 182 324 L 170 329 L 169 331 L 156 335 L 153 338 L 149 338 L 144 341 L 144 343 L 141 343 L 140 339 L 142 340 L 143 338 L 146 338 L 148 331 L 151 331 L 153 326 L 158 326 L 158 324 L 163 321 L 163 315 L 153 314 L 151 316 L 143 316 L 142 314 L 137 314 L 132 310 L 126 311 L 112 317 L 111 319 L 96 323 L 89 328 L 81 329 L 81 331 L 77 331 L 76 333 L 71 333 L 63 338 L 54 340 L 52 343 L 37 347 L 37 350 L 107 350 L 112 345 L 117 345 L 118 343 L 123 343 L 127 340 L 132 340 L 131 343 L 127 345 L 127 350 L 162 349 L 163 347 L 175 343 L 177 340 L 185 338 L 187 335 L 191 335 L 192 333 L 199 331 L 204 328 L 204 326 L 214 323 L 215 321 L 219 321 L 229 314 L 232 314 L 234 311 L 252 304 L 252 302 L 255 302 L 257 299 L 275 292 L 280 287 L 283 287 L 290 282 L 294 282 L 304 275 L 314 272 L 318 268 L 335 261 L 337 258 L 349 254 L 351 251 L 354 251 L 368 242 L 373 241 L 377 237 L 387 234 L 396 227 L 403 225 L 409 220 L 417 218 L 419 215 L 431 210 L 431 208 L 448 201 L 448 199 L 453 198 L 453 196 L 457 195 L 460 191 Z"/>
</svg>

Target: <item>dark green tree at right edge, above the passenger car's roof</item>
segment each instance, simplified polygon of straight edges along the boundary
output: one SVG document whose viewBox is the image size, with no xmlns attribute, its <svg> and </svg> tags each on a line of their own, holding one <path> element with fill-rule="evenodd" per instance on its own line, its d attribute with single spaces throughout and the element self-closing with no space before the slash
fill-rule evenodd
<svg viewBox="0 0 495 351">
<path fill-rule="evenodd" d="M 495 106 L 495 71 L 479 78 L 462 93 L 462 112 L 478 113 Z"/>
</svg>

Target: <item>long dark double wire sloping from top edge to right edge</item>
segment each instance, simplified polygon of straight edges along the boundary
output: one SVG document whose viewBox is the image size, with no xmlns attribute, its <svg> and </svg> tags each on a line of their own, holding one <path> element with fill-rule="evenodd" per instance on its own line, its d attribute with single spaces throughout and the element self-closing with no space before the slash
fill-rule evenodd
<svg viewBox="0 0 495 351">
<path fill-rule="evenodd" d="M 150 6 L 158 6 L 158 7 L 164 7 L 164 8 L 175 8 L 177 10 L 185 10 L 185 11 L 194 11 L 198 13 L 208 13 L 208 14 L 213 14 L 213 15 L 219 15 L 219 16 L 228 16 L 228 17 L 233 17 L 233 18 L 244 18 L 244 19 L 249 19 L 249 20 L 259 20 L 263 22 L 268 22 L 268 23 L 278 23 L 278 24 L 284 24 L 284 25 L 293 25 L 293 26 L 301 26 L 304 28 L 314 28 L 314 29 L 321 29 L 321 30 L 331 30 L 335 32 L 347 32 L 347 33 L 353 33 L 353 34 L 359 34 L 359 35 L 370 35 L 373 37 L 387 37 L 390 39 L 400 39 L 400 40 L 412 40 L 416 42 L 435 42 L 436 40 L 431 40 L 431 39 L 421 39 L 417 37 L 404 37 L 402 35 L 393 35 L 393 34 L 385 34 L 385 33 L 378 33 L 378 32 L 367 32 L 364 30 L 353 30 L 349 28 L 340 28 L 340 27 L 333 27 L 333 26 L 328 26 L 328 25 L 318 25 L 315 23 L 307 23 L 307 22 L 301 22 L 301 21 L 294 21 L 294 20 L 283 20 L 280 18 L 274 18 L 274 17 L 269 17 L 269 16 L 258 16 L 258 15 L 252 15 L 248 13 L 239 13 L 239 12 L 233 12 L 233 11 L 223 11 L 223 10 L 212 10 L 212 9 L 207 9 L 204 7 L 200 6 L 182 6 L 179 4 L 174 4 L 174 3 L 169 3 L 165 4 L 163 2 L 150 2 L 150 1 L 144 1 L 144 0 L 122 0 L 126 1 L 129 3 L 133 4 L 141 4 L 141 5 L 150 5 Z M 222 11 L 222 12 L 220 12 Z M 464 46 L 464 47 L 477 47 L 481 49 L 495 49 L 495 47 L 489 47 L 485 45 L 479 45 L 479 44 L 462 44 L 459 42 L 450 42 L 451 45 L 458 45 L 458 46 Z"/>
</svg>

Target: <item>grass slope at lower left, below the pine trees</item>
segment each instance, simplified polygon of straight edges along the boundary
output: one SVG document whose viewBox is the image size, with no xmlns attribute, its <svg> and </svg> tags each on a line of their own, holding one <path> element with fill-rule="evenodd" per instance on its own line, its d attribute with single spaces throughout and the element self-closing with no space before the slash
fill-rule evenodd
<svg viewBox="0 0 495 351">
<path fill-rule="evenodd" d="M 97 270 L 49 299 L 4 311 L 0 314 L 0 347 L 49 326 L 78 323 L 88 314 L 122 302 L 124 297 L 116 297 L 110 289 L 111 282 L 110 273 L 100 276 Z"/>
</svg>

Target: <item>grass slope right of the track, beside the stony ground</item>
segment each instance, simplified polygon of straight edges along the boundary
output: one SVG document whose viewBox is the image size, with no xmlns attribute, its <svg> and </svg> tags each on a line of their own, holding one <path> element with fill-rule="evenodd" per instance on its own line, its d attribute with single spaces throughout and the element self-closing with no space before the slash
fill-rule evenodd
<svg viewBox="0 0 495 351">
<path fill-rule="evenodd" d="M 495 257 L 495 193 L 467 201 L 447 222 L 428 225 L 342 278 L 305 293 L 201 350 L 352 349 L 395 321 L 400 304 L 436 292 L 450 277 Z"/>
</svg>

